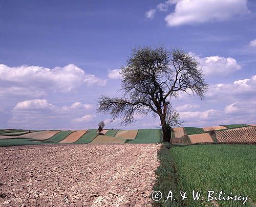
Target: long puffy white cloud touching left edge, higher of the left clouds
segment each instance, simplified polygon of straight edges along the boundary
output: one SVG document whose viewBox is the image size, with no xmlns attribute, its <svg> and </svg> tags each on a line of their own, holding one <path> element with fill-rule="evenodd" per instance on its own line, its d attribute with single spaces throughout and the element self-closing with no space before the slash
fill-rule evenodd
<svg viewBox="0 0 256 207">
<path fill-rule="evenodd" d="M 31 97 L 41 97 L 46 96 L 47 91 L 65 93 L 83 84 L 103 86 L 106 80 L 87 74 L 74 64 L 53 69 L 28 65 L 9 67 L 0 64 L 0 96 L 30 94 Z"/>
</svg>

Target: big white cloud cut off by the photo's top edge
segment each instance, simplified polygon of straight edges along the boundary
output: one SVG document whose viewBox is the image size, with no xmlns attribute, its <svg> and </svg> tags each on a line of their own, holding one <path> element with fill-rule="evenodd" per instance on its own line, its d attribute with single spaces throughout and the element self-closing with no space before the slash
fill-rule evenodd
<svg viewBox="0 0 256 207">
<path fill-rule="evenodd" d="M 165 17 L 170 27 L 224 21 L 249 13 L 247 0 L 178 0 L 174 12 Z M 163 5 L 160 7 L 165 10 Z M 160 9 L 159 8 L 159 9 Z"/>
</svg>

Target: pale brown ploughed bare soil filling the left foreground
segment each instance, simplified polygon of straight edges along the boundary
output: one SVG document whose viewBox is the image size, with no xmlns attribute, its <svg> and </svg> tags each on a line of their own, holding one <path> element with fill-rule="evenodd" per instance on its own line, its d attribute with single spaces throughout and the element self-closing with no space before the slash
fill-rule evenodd
<svg viewBox="0 0 256 207">
<path fill-rule="evenodd" d="M 151 206 L 160 146 L 0 148 L 0 206 Z"/>
</svg>

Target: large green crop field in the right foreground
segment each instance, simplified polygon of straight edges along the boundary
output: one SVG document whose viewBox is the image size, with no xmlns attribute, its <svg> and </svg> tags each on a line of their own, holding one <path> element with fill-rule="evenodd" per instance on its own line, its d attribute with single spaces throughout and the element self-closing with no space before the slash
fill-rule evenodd
<svg viewBox="0 0 256 207">
<path fill-rule="evenodd" d="M 243 206 L 256 203 L 256 146 L 255 145 L 194 145 L 163 148 L 159 152 L 161 166 L 155 190 L 167 196 L 173 190 L 176 201 L 156 202 L 154 206 L 213 206 L 207 200 L 207 191 L 225 192 L 225 196 L 248 196 Z M 166 188 L 167 186 L 167 188 Z M 180 191 L 188 198 L 181 200 Z M 193 190 L 201 191 L 201 199 L 193 200 Z M 214 195 L 216 196 L 216 195 Z M 223 195 L 222 195 L 223 196 Z M 219 206 L 242 206 L 241 201 L 215 201 Z"/>
</svg>

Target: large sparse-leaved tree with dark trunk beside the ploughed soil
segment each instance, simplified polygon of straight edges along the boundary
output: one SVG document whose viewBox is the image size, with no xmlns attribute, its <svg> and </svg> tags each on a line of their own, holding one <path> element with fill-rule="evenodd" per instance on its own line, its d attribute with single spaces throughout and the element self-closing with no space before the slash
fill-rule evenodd
<svg viewBox="0 0 256 207">
<path fill-rule="evenodd" d="M 163 45 L 133 49 L 120 69 L 123 96 L 101 96 L 97 111 L 110 113 L 112 120 L 120 117 L 121 125 L 134 123 L 135 114 L 153 112 L 160 118 L 164 142 L 170 142 L 172 127 L 181 123 L 171 99 L 179 97 L 180 92 L 202 99 L 208 89 L 193 56 L 180 49 L 167 50 Z"/>
</svg>

